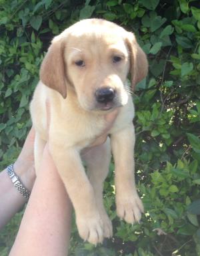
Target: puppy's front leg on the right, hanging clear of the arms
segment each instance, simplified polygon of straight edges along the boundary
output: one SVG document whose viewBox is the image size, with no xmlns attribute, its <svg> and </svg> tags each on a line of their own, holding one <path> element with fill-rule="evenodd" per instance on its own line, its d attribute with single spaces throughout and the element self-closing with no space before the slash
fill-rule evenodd
<svg viewBox="0 0 200 256">
<path fill-rule="evenodd" d="M 135 187 L 133 124 L 111 135 L 111 146 L 115 160 L 115 188 L 117 215 L 127 223 L 141 219 L 143 204 Z"/>
</svg>

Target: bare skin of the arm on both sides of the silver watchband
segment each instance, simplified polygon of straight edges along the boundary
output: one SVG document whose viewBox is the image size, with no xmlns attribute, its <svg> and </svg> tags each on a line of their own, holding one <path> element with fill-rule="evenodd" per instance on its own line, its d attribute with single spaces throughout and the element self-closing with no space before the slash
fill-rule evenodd
<svg viewBox="0 0 200 256">
<path fill-rule="evenodd" d="M 14 163 L 14 170 L 23 185 L 31 191 L 35 181 L 33 164 L 33 144 L 35 131 L 31 128 L 19 157 Z M 11 182 L 7 170 L 0 172 L 0 229 L 19 211 L 27 202 Z"/>
</svg>

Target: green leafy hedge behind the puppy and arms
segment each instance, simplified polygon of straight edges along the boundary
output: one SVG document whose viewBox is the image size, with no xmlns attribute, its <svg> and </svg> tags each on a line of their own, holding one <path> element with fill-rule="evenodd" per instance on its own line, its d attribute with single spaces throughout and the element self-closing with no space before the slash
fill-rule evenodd
<svg viewBox="0 0 200 256">
<path fill-rule="evenodd" d="M 149 76 L 133 95 L 145 215 L 133 227 L 116 217 L 111 164 L 105 205 L 114 237 L 93 247 L 73 225 L 69 255 L 200 255 L 199 7 L 197 0 L 0 0 L 1 170 L 31 126 L 29 100 L 54 35 L 79 19 L 103 17 L 133 31 L 148 55 Z M 21 216 L 1 231 L 0 255 L 8 254 Z"/>
</svg>

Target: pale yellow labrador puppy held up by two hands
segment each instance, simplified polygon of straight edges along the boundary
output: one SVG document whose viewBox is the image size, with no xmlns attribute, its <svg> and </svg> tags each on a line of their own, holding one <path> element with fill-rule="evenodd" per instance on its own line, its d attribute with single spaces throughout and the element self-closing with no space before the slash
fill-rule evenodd
<svg viewBox="0 0 200 256">
<path fill-rule="evenodd" d="M 48 136 L 53 160 L 75 209 L 79 235 L 93 244 L 112 235 L 102 197 L 111 150 L 117 215 L 134 223 L 143 212 L 135 188 L 134 107 L 126 84 L 129 72 L 132 87 L 147 75 L 147 58 L 133 33 L 103 19 L 85 19 L 53 39 L 31 102 L 36 170 Z M 47 101 L 51 106 L 49 134 Z M 85 155 L 87 176 L 81 150 L 103 132 L 105 114 L 115 108 L 119 114 L 109 131 L 111 143 L 108 138 Z"/>
</svg>

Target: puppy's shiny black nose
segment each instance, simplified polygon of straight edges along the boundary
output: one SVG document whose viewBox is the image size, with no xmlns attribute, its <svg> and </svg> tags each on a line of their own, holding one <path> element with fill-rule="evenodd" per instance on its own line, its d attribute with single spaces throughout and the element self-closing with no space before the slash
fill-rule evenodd
<svg viewBox="0 0 200 256">
<path fill-rule="evenodd" d="M 99 103 L 108 103 L 115 97 L 115 90 L 113 88 L 104 87 L 95 92 L 96 100 Z"/>
</svg>

